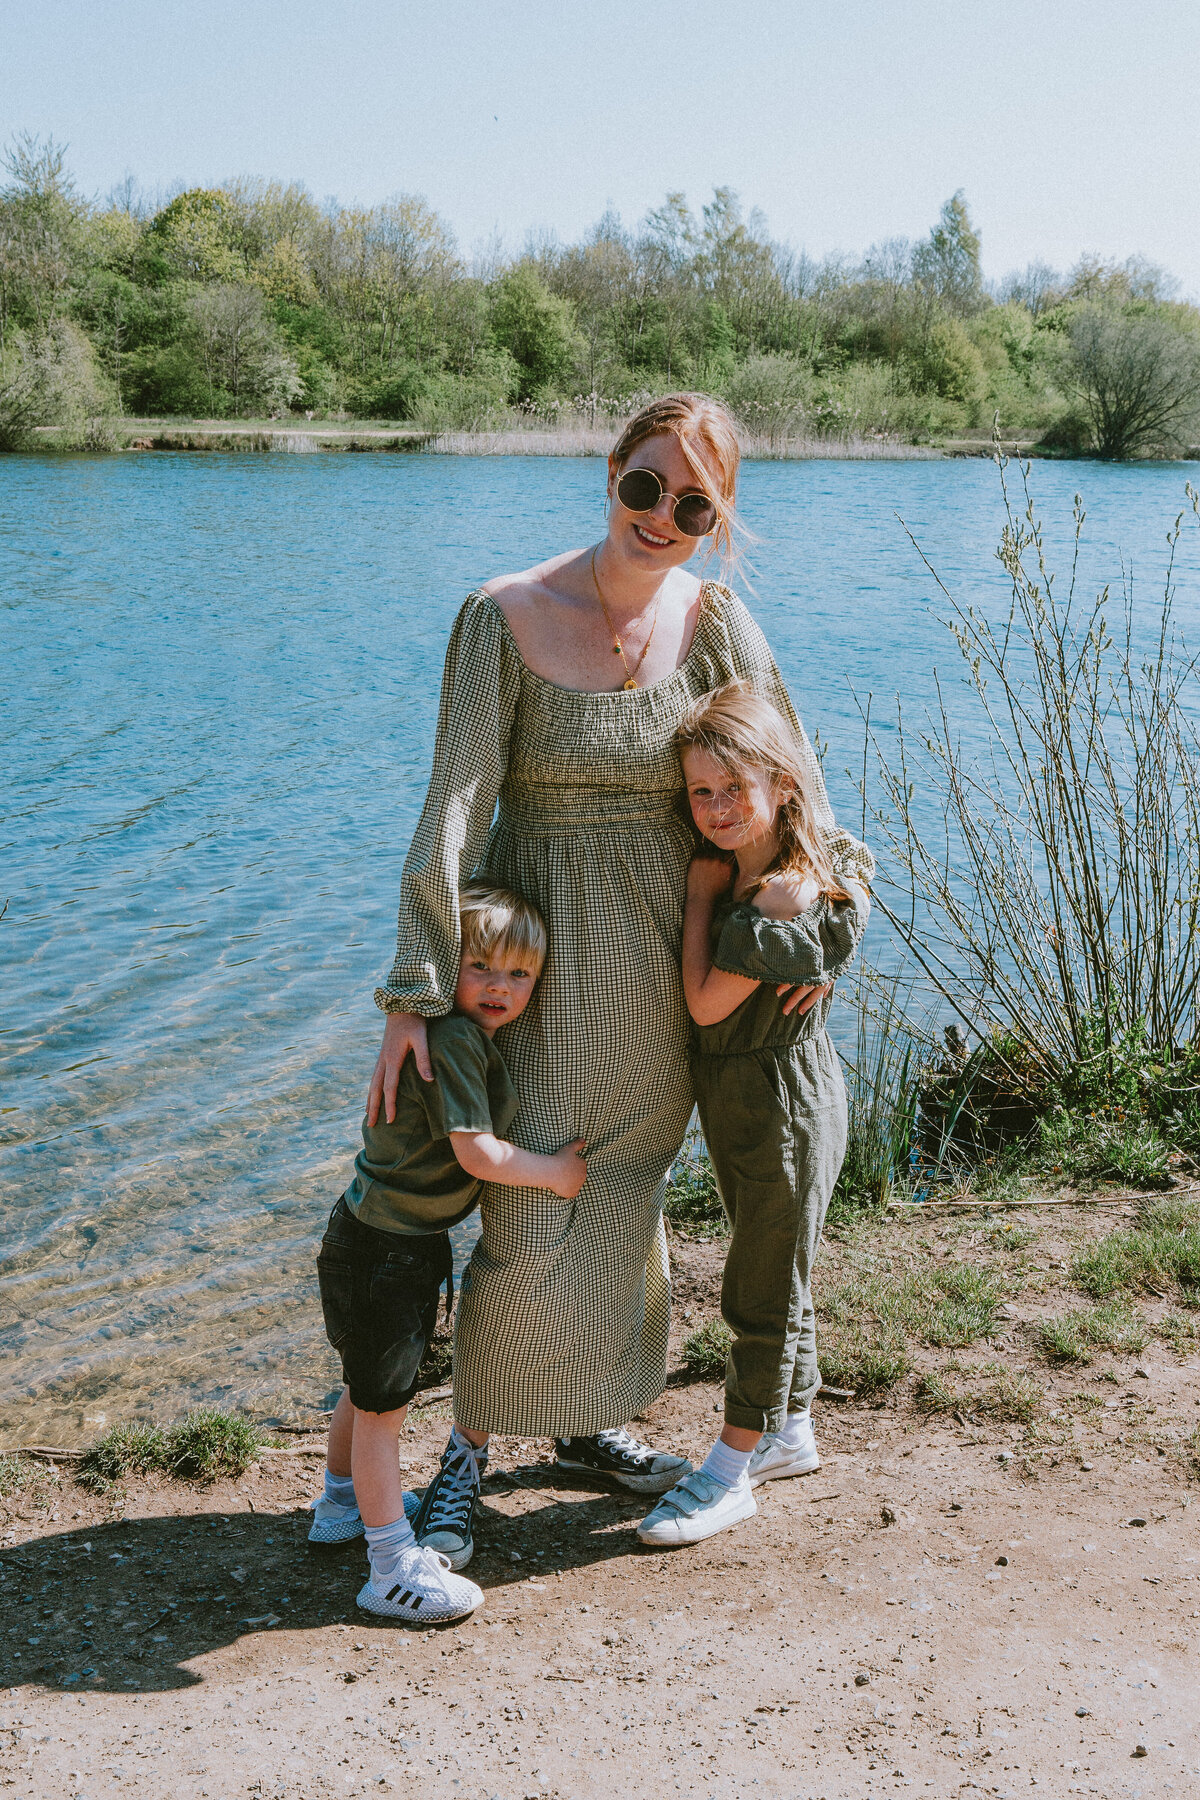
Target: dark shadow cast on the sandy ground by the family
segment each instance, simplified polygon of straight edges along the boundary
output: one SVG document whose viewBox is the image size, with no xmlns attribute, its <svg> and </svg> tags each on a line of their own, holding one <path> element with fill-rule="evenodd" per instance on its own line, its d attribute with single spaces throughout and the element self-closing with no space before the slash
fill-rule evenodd
<svg viewBox="0 0 1200 1800">
<path fill-rule="evenodd" d="M 554 1478 L 554 1490 L 549 1480 Z M 506 1512 L 491 1499 L 543 1494 Z M 588 1568 L 639 1550 L 648 1501 L 567 1492 L 563 1474 L 516 1469 L 488 1480 L 471 1579 L 502 1591 L 531 1575 Z M 306 1508 L 119 1519 L 32 1537 L 0 1552 L 0 1685 L 74 1692 L 162 1692 L 203 1681 L 189 1667 L 254 1633 L 387 1625 L 360 1613 L 362 1539 L 308 1544 Z M 403 1629 L 403 1627 L 401 1627 Z"/>
</svg>

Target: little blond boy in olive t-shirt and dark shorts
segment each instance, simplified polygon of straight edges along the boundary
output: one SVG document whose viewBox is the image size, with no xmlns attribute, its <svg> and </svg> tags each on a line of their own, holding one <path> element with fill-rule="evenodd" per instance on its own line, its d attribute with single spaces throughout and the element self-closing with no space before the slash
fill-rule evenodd
<svg viewBox="0 0 1200 1800">
<path fill-rule="evenodd" d="M 367 1613 L 408 1622 L 466 1618 L 475 1582 L 414 1537 L 399 1480 L 399 1433 L 417 1364 L 452 1280 L 448 1228 L 477 1206 L 484 1181 L 551 1188 L 574 1199 L 587 1177 L 583 1139 L 554 1156 L 504 1141 L 516 1094 L 491 1042 L 529 1004 L 545 961 L 542 914 L 518 895 L 462 889 L 462 961 L 453 1012 L 430 1019 L 434 1080 L 405 1062 L 389 1125 L 363 1123 L 354 1181 L 329 1215 L 317 1258 L 329 1343 L 345 1390 L 329 1420 L 326 1490 L 313 1503 L 313 1544 L 365 1532 Z"/>
</svg>

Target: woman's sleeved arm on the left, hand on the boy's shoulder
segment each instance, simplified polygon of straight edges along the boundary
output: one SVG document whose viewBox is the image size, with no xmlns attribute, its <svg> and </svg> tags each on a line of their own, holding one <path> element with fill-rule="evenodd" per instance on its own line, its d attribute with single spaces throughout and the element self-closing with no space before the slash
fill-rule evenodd
<svg viewBox="0 0 1200 1800">
<path fill-rule="evenodd" d="M 387 1015 L 367 1123 L 396 1116 L 412 1051 L 430 1080 L 425 1021 L 450 1012 L 459 976 L 459 887 L 479 866 L 507 769 L 520 655 L 495 601 L 471 594 L 450 634 L 434 769 L 399 884 L 396 961 L 374 999 Z M 396 1021 L 396 1022 L 392 1022 Z"/>
</svg>

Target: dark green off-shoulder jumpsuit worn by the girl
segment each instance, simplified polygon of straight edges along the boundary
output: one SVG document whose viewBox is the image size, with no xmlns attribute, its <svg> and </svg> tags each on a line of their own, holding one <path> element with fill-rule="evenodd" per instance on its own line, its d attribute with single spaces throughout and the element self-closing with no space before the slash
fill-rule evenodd
<svg viewBox="0 0 1200 1800">
<path fill-rule="evenodd" d="M 846 1156 L 846 1084 L 826 1031 L 829 995 L 784 1015 L 781 981 L 833 981 L 862 940 L 869 900 L 820 896 L 793 920 L 720 900 L 712 965 L 761 981 L 729 1019 L 693 1028 L 693 1080 L 732 1240 L 721 1318 L 734 1334 L 725 1422 L 781 1431 L 820 1386 L 811 1267 Z"/>
</svg>

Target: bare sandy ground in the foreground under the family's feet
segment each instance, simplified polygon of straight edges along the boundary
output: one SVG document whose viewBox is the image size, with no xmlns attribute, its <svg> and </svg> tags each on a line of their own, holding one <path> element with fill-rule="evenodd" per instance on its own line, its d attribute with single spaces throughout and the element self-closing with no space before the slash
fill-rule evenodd
<svg viewBox="0 0 1200 1800">
<path fill-rule="evenodd" d="M 678 1249 L 680 1314 L 718 1265 Z M 1022 1328 L 993 1348 L 1020 1363 Z M 910 1382 L 822 1400 L 822 1469 L 669 1553 L 644 1503 L 497 1440 L 486 1604 L 441 1631 L 356 1613 L 362 1544 L 306 1546 L 317 1454 L 203 1490 L 47 1478 L 0 1503 L 0 1795 L 1196 1795 L 1200 1357 L 1040 1379 L 1033 1433 L 930 1422 Z M 642 1435 L 700 1458 L 718 1404 L 676 1379 Z M 444 1435 L 444 1406 L 410 1426 L 414 1485 Z"/>
</svg>

